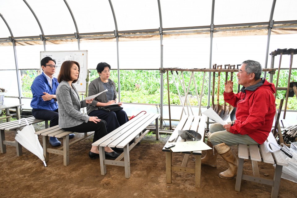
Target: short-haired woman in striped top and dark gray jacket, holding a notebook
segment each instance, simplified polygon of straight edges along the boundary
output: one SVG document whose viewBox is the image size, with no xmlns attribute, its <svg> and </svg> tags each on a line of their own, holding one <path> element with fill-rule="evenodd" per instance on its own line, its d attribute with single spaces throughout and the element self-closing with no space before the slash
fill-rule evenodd
<svg viewBox="0 0 297 198">
<path fill-rule="evenodd" d="M 90 83 L 88 96 L 100 93 L 105 89 L 107 89 L 107 91 L 94 98 L 93 102 L 87 107 L 87 113 L 89 116 L 97 116 L 98 118 L 105 120 L 107 123 L 107 133 L 110 133 L 114 129 L 128 122 L 129 119 L 124 110 L 107 112 L 105 110 L 98 109 L 98 107 L 118 103 L 118 98 L 115 83 L 109 78 L 110 65 L 106 62 L 100 62 L 98 63 L 96 69 L 99 77 Z M 122 103 L 118 103 L 118 105 L 120 106 Z"/>
</svg>

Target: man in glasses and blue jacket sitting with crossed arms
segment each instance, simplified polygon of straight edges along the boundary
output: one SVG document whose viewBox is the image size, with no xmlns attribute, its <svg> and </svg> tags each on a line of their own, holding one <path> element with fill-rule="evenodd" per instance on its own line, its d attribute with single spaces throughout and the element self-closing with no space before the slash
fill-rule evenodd
<svg viewBox="0 0 297 198">
<path fill-rule="evenodd" d="M 43 72 L 38 75 L 32 85 L 31 91 L 33 98 L 31 101 L 32 115 L 37 119 L 50 120 L 49 127 L 59 124 L 58 103 L 56 98 L 56 89 L 58 80 L 54 78 L 56 72 L 56 61 L 50 57 L 41 60 Z M 69 138 L 75 135 L 69 134 Z M 56 137 L 49 137 L 49 143 L 52 146 L 60 146 L 61 142 Z"/>
</svg>

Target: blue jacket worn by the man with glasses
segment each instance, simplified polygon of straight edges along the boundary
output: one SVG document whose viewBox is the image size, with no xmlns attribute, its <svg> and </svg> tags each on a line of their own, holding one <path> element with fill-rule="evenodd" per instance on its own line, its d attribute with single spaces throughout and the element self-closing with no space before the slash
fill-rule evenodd
<svg viewBox="0 0 297 198">
<path fill-rule="evenodd" d="M 52 80 L 53 88 L 50 88 L 49 82 L 47 81 L 45 74 L 42 72 L 41 75 L 37 76 L 34 79 L 31 85 L 33 98 L 30 106 L 33 109 L 37 109 L 37 110 L 51 110 L 51 111 L 57 110 L 58 103 L 54 99 L 51 99 L 49 101 L 43 101 L 42 96 L 44 95 L 43 92 L 56 95 L 56 89 L 58 87 L 58 84 L 59 84 L 58 79 L 53 78 Z"/>
</svg>

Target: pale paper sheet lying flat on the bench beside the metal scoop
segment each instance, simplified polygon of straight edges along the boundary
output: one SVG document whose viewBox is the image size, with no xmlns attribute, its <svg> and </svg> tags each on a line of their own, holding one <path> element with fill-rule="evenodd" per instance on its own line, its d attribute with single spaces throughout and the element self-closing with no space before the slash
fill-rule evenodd
<svg viewBox="0 0 297 198">
<path fill-rule="evenodd" d="M 211 149 L 202 140 L 200 141 L 187 141 L 187 142 L 174 142 L 174 147 L 170 148 L 172 152 L 184 152 L 184 151 L 202 151 Z"/>
</svg>

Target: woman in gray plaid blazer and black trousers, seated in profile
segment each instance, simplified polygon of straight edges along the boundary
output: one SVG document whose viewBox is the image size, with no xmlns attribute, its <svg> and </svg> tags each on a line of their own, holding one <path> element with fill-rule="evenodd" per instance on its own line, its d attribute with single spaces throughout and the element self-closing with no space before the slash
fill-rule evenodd
<svg viewBox="0 0 297 198">
<path fill-rule="evenodd" d="M 88 116 L 80 112 L 80 108 L 86 107 L 92 103 L 91 100 L 80 101 L 78 92 L 73 86 L 80 74 L 80 65 L 75 61 L 65 61 L 62 63 L 58 75 L 58 88 L 56 97 L 59 105 L 59 127 L 65 131 L 85 133 L 95 131 L 93 142 L 99 140 L 107 134 L 106 125 L 103 120 L 96 116 Z M 105 156 L 116 158 L 118 153 L 110 147 L 105 147 Z M 89 157 L 99 157 L 97 146 L 92 146 Z"/>
</svg>

